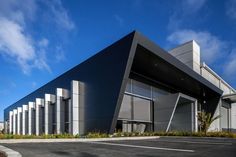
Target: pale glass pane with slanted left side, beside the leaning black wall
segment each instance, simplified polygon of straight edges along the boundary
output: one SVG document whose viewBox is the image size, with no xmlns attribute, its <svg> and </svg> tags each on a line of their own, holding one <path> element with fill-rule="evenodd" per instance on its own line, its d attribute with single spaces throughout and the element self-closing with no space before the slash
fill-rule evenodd
<svg viewBox="0 0 236 157">
<path fill-rule="evenodd" d="M 131 119 L 131 96 L 124 95 L 120 113 L 119 113 L 120 119 Z"/>
</svg>

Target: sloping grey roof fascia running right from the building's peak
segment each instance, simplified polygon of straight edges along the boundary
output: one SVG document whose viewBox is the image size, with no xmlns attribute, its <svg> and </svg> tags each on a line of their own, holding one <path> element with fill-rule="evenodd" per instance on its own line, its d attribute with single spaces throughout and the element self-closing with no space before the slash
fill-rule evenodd
<svg viewBox="0 0 236 157">
<path fill-rule="evenodd" d="M 156 54 L 160 58 L 167 61 L 169 64 L 175 66 L 177 69 L 183 71 L 184 73 L 186 73 L 187 75 L 189 75 L 190 77 L 192 77 L 196 81 L 199 81 L 200 83 L 204 84 L 205 86 L 207 86 L 211 90 L 215 91 L 216 93 L 218 93 L 220 95 L 223 94 L 223 91 L 220 88 L 213 85 L 207 79 L 202 77 L 197 72 L 193 71 L 190 67 L 188 67 L 187 65 L 185 65 L 184 63 L 179 61 L 177 58 L 175 58 L 174 56 L 169 54 L 166 50 L 159 47 L 156 43 L 154 43 L 153 41 L 151 41 L 150 39 L 148 39 L 147 37 L 145 37 L 141 33 L 134 31 L 134 41 L 133 42 L 137 43 L 137 44 L 143 46 L 144 48 L 148 49 L 149 51 L 153 52 L 154 54 Z"/>
</svg>

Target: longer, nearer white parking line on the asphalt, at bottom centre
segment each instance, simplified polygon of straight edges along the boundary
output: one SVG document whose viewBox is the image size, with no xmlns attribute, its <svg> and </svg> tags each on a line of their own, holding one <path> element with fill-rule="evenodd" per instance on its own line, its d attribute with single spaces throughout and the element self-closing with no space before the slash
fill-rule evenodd
<svg viewBox="0 0 236 157">
<path fill-rule="evenodd" d="M 177 151 L 177 152 L 189 152 L 189 153 L 193 153 L 194 152 L 194 150 L 189 150 L 189 149 L 175 149 L 175 148 L 164 148 L 164 147 L 138 146 L 138 145 L 118 144 L 118 143 L 108 143 L 108 142 L 87 142 L 87 143 L 111 145 L 111 146 L 120 146 L 120 147 L 131 147 L 131 148 L 142 148 L 142 149 L 156 149 L 156 150 L 166 150 L 166 151 Z"/>
</svg>

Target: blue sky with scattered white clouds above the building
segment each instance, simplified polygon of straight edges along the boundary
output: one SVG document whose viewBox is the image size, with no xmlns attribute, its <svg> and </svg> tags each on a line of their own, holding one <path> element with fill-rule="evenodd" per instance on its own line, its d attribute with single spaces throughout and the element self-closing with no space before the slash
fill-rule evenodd
<svg viewBox="0 0 236 157">
<path fill-rule="evenodd" d="M 127 33 L 165 49 L 189 40 L 236 88 L 236 0 L 6 0 L 0 2 L 3 109 Z"/>
</svg>

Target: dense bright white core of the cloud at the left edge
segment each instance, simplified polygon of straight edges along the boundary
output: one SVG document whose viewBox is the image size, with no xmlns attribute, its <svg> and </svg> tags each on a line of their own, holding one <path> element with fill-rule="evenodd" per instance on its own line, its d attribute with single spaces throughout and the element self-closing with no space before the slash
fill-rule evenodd
<svg viewBox="0 0 236 157">
<path fill-rule="evenodd" d="M 0 54 L 16 58 L 22 71 L 28 73 L 28 62 L 36 57 L 31 39 L 19 24 L 3 17 L 0 17 L 0 23 Z"/>
</svg>

